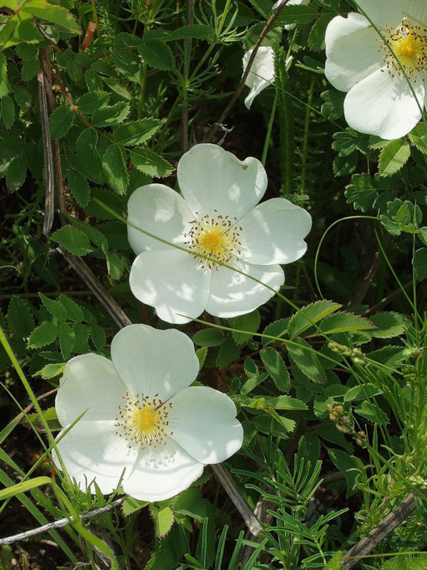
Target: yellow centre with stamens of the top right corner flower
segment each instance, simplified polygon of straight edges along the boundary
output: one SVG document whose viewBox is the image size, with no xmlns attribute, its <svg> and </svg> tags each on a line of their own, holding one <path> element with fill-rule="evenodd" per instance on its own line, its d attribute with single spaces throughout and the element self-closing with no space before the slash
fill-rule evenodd
<svg viewBox="0 0 427 570">
<path fill-rule="evenodd" d="M 400 28 L 394 30 L 386 26 L 383 33 L 405 73 L 416 81 L 419 73 L 427 71 L 427 30 L 421 26 L 413 26 L 405 19 Z M 401 66 L 386 42 L 381 42 L 380 52 L 384 52 L 380 61 L 385 63 L 389 73 L 392 76 L 395 74 L 402 76 Z"/>
</svg>

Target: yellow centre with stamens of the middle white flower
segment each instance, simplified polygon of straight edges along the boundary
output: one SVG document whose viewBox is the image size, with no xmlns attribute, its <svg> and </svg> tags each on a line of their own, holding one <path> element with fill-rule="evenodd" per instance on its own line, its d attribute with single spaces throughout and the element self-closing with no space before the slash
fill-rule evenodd
<svg viewBox="0 0 427 570">
<path fill-rule="evenodd" d="M 191 222 L 190 232 L 186 234 L 189 238 L 186 245 L 195 252 L 195 257 L 204 256 L 199 259 L 205 269 L 212 269 L 213 261 L 210 259 L 228 263 L 240 253 L 239 229 L 242 228 L 236 227 L 230 217 L 222 217 L 215 210 L 213 217 L 206 214 L 202 219 Z M 205 257 L 210 259 L 204 259 Z M 216 269 L 218 267 L 215 265 Z"/>
</svg>

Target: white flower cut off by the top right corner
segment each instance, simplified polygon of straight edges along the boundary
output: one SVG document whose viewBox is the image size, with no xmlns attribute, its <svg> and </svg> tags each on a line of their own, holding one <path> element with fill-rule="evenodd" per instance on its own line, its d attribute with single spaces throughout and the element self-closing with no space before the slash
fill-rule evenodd
<svg viewBox="0 0 427 570">
<path fill-rule="evenodd" d="M 359 0 L 401 62 L 368 19 L 336 16 L 326 29 L 326 78 L 348 92 L 347 123 L 360 133 L 400 138 L 421 119 L 426 105 L 427 2 Z"/>
</svg>

